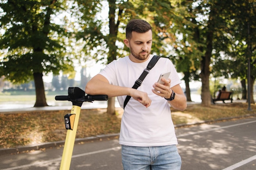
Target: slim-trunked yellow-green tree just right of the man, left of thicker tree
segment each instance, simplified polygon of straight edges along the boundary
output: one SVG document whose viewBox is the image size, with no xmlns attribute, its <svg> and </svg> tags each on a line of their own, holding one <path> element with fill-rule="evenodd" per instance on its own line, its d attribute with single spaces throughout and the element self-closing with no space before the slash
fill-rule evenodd
<svg viewBox="0 0 256 170">
<path fill-rule="evenodd" d="M 196 19 L 196 13 L 193 11 L 193 1 L 185 0 L 180 4 L 177 10 L 181 11 L 183 22 L 177 24 L 177 33 L 182 38 L 177 38 L 174 42 L 176 60 L 176 68 L 178 72 L 184 73 L 184 81 L 186 85 L 186 99 L 191 101 L 189 82 L 199 80 L 200 60 L 199 56 L 203 55 L 202 49 L 205 48 L 200 43 L 199 28 Z"/>
</svg>

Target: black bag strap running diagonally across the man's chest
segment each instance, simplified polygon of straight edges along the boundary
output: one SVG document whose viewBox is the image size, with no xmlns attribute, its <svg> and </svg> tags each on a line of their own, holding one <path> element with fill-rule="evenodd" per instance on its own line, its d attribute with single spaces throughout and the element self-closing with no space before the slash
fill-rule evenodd
<svg viewBox="0 0 256 170">
<path fill-rule="evenodd" d="M 147 68 L 144 69 L 144 71 L 142 72 L 142 74 L 139 76 L 139 78 L 135 81 L 135 84 L 132 86 L 132 88 L 137 89 L 141 84 L 142 81 L 145 79 L 145 77 L 148 75 L 149 71 L 151 70 L 151 68 L 153 68 L 155 66 L 155 64 L 157 63 L 157 61 L 159 60 L 159 56 L 154 55 L 153 58 L 150 60 L 150 62 L 148 63 Z M 126 99 L 124 100 L 124 108 L 126 106 L 126 104 L 129 102 L 131 96 L 126 96 Z"/>
</svg>

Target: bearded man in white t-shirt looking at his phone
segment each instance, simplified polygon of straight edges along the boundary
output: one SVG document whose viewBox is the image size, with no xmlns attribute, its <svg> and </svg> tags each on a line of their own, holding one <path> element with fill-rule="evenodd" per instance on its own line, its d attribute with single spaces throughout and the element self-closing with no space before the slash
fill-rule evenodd
<svg viewBox="0 0 256 170">
<path fill-rule="evenodd" d="M 130 55 L 108 64 L 86 85 L 85 93 L 117 97 L 124 108 L 119 143 L 124 170 L 180 170 L 177 139 L 169 104 L 186 108 L 186 97 L 172 62 L 160 58 L 139 88 L 131 88 L 153 57 L 152 28 L 144 20 L 131 20 L 126 26 L 124 44 Z M 161 73 L 171 71 L 164 84 L 157 83 Z"/>
</svg>

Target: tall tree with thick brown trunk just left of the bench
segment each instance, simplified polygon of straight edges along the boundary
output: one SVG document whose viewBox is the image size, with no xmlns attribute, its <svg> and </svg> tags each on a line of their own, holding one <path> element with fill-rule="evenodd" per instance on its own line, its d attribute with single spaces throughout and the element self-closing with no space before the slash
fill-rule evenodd
<svg viewBox="0 0 256 170">
<path fill-rule="evenodd" d="M 196 16 L 195 24 L 197 25 L 197 28 L 194 29 L 195 39 L 196 42 L 205 44 L 205 46 L 199 47 L 202 52 L 200 78 L 203 106 L 211 105 L 209 78 L 214 73 L 213 59 L 215 58 L 216 61 L 217 57 L 221 58 L 222 53 L 225 54 L 225 51 L 228 51 L 227 44 L 230 44 L 230 40 L 227 38 L 230 29 L 227 26 L 230 17 L 228 7 L 232 5 L 232 0 L 194 0 L 192 4 L 191 13 Z"/>
</svg>

